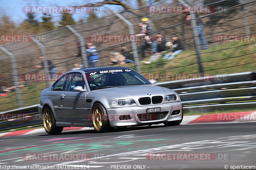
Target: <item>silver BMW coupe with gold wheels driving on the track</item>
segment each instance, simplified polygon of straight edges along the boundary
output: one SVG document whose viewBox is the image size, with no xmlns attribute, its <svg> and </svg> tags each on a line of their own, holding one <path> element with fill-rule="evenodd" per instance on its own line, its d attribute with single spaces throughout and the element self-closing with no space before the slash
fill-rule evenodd
<svg viewBox="0 0 256 170">
<path fill-rule="evenodd" d="M 49 134 L 63 127 L 111 128 L 164 123 L 179 125 L 179 95 L 127 67 L 72 70 L 41 93 L 39 113 Z"/>
</svg>

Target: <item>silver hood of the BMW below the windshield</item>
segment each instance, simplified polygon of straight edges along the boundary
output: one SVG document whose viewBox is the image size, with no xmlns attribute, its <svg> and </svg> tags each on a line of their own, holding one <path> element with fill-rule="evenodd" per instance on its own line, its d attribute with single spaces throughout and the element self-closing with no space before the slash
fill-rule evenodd
<svg viewBox="0 0 256 170">
<path fill-rule="evenodd" d="M 111 87 L 106 89 L 93 90 L 93 93 L 104 94 L 118 99 L 138 99 L 140 97 L 163 96 L 175 94 L 171 89 L 157 85 L 130 85 L 122 87 Z M 151 95 L 148 95 L 150 93 Z"/>
</svg>

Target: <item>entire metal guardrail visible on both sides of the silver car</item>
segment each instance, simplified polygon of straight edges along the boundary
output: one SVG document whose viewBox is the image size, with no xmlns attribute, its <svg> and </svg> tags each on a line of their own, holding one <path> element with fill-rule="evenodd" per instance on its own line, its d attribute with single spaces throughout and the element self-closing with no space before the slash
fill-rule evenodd
<svg viewBox="0 0 256 170">
<path fill-rule="evenodd" d="M 256 71 L 210 76 L 196 80 L 168 81 L 156 85 L 179 93 L 184 113 L 256 108 Z M 0 112 L 0 131 L 42 124 L 37 110 L 38 105 Z M 3 114 L 17 114 L 18 118 L 3 121 L 1 118 Z"/>
</svg>

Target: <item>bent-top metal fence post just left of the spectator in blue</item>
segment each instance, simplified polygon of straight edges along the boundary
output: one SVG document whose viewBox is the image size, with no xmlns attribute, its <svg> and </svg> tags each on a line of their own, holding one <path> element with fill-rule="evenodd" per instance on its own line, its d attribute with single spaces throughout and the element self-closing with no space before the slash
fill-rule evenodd
<svg viewBox="0 0 256 170">
<path fill-rule="evenodd" d="M 83 64 L 84 64 L 84 67 L 85 68 L 88 68 L 89 67 L 89 64 L 88 64 L 88 58 L 87 58 L 87 55 L 86 55 L 86 50 L 85 50 L 85 43 L 84 43 L 84 37 L 83 35 L 81 35 L 80 33 L 78 33 L 76 31 L 75 28 L 73 28 L 72 26 L 66 26 L 72 33 L 74 33 L 77 37 L 78 37 L 78 40 L 79 40 L 79 44 L 80 44 L 80 49 L 81 49 L 81 55 L 82 55 L 82 59 L 83 59 Z"/>
</svg>

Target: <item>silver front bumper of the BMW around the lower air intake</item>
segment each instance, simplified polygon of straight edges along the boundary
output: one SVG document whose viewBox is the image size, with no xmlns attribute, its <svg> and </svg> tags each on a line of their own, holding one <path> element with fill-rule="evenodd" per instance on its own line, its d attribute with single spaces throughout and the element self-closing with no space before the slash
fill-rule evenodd
<svg viewBox="0 0 256 170">
<path fill-rule="evenodd" d="M 138 114 L 151 114 L 147 113 L 147 108 L 155 108 L 161 107 L 161 112 L 167 112 L 167 115 L 158 120 L 148 120 L 148 121 L 140 121 L 138 118 Z M 147 106 L 133 106 L 133 107 L 119 107 L 119 108 L 108 108 L 106 109 L 108 113 L 108 120 L 111 127 L 119 127 L 119 126 L 136 126 L 143 124 L 157 124 L 161 122 L 169 122 L 176 121 L 182 119 L 182 104 L 181 102 L 172 102 L 172 103 L 164 103 L 159 105 L 147 105 Z M 171 115 L 172 111 L 180 110 L 178 115 Z M 157 112 L 153 112 L 152 114 L 157 114 Z M 130 115 L 131 119 L 129 120 L 119 120 L 118 117 L 120 115 Z"/>
</svg>

